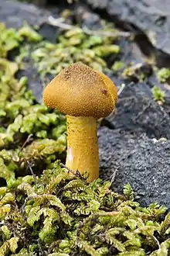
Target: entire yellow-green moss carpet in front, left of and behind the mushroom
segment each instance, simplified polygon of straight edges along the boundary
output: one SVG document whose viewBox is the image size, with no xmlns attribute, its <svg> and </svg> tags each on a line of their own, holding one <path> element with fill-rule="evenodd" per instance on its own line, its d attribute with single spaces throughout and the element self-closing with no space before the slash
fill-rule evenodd
<svg viewBox="0 0 170 256">
<path fill-rule="evenodd" d="M 110 182 L 70 178 L 57 161 L 66 150 L 65 116 L 38 104 L 26 77 L 17 79 L 26 57 L 42 81 L 74 61 L 109 71 L 104 58 L 120 50 L 113 38 L 76 28 L 52 44 L 27 25 L 1 24 L 0 33 L 0 256 L 168 255 L 166 208 L 141 207 L 130 185 L 117 195 Z"/>
</svg>

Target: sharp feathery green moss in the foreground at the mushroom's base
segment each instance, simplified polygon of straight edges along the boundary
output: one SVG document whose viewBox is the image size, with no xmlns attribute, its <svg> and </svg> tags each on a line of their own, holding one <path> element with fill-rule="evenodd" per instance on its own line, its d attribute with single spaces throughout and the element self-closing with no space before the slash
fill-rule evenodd
<svg viewBox="0 0 170 256">
<path fill-rule="evenodd" d="M 59 161 L 40 177 L 0 189 L 0 255 L 168 255 L 170 215 L 98 179 L 70 178 Z"/>
</svg>

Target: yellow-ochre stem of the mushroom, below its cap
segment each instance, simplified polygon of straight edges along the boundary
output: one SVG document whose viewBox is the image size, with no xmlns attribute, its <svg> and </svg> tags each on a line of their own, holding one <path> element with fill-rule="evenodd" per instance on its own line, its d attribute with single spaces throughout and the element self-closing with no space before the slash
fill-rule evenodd
<svg viewBox="0 0 170 256">
<path fill-rule="evenodd" d="M 89 176 L 87 182 L 99 177 L 97 120 L 92 116 L 66 116 L 66 167 Z"/>
</svg>

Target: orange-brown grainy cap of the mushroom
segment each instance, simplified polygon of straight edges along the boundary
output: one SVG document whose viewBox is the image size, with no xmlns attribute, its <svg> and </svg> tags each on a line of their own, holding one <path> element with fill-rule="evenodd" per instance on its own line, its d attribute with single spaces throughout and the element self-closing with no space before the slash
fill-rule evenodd
<svg viewBox="0 0 170 256">
<path fill-rule="evenodd" d="M 43 92 L 43 102 L 70 116 L 100 118 L 114 110 L 117 88 L 105 74 L 77 62 L 49 82 Z"/>
</svg>

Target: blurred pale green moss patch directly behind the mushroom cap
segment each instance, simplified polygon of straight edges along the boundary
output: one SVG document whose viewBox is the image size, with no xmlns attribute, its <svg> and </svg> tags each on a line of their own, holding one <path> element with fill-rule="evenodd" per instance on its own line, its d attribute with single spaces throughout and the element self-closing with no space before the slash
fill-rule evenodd
<svg viewBox="0 0 170 256">
<path fill-rule="evenodd" d="M 107 27 L 107 31 L 114 31 L 113 27 Z M 42 41 L 34 47 L 25 45 L 21 49 L 18 61 L 29 55 L 35 63 L 41 78 L 46 74 L 56 75 L 73 62 L 83 61 L 96 70 L 107 69 L 104 58 L 111 54 L 119 54 L 120 48 L 113 44 L 115 38 L 112 36 L 89 36 L 80 27 L 75 27 L 62 33 L 56 44 Z M 31 48 L 31 49 L 30 49 Z"/>
</svg>

